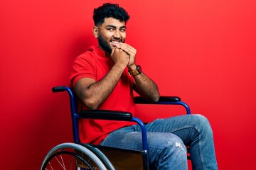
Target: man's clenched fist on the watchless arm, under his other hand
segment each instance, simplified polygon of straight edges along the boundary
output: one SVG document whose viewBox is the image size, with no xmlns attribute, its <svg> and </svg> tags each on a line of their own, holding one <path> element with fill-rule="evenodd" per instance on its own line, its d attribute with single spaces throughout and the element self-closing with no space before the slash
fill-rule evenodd
<svg viewBox="0 0 256 170">
<path fill-rule="evenodd" d="M 114 64 L 119 64 L 124 68 L 127 67 L 129 63 L 129 55 L 124 50 L 115 47 L 111 52 L 111 57 Z"/>
</svg>

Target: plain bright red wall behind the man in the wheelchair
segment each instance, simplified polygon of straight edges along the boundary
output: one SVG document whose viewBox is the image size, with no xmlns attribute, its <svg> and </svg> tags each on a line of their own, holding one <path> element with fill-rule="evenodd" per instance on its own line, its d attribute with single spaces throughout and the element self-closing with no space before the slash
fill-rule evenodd
<svg viewBox="0 0 256 170">
<path fill-rule="evenodd" d="M 68 96 L 50 89 L 68 85 L 74 57 L 96 44 L 92 8 L 102 2 L 0 2 L 0 169 L 38 169 L 72 141 Z M 255 1 L 118 3 L 132 16 L 127 42 L 161 94 L 210 120 L 219 169 L 255 169 Z"/>
</svg>

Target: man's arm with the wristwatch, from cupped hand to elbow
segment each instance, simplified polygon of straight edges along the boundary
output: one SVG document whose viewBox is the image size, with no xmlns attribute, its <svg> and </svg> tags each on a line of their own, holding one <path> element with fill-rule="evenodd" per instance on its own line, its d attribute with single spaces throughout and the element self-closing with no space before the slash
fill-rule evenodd
<svg viewBox="0 0 256 170">
<path fill-rule="evenodd" d="M 135 70 L 135 57 L 137 50 L 134 47 L 121 43 L 117 45 L 118 48 L 124 50 L 129 55 L 129 63 L 127 67 L 129 70 Z M 134 76 L 134 90 L 142 96 L 142 98 L 146 99 L 146 101 L 156 102 L 159 100 L 160 94 L 158 86 L 149 79 L 143 72 L 137 76 Z"/>
</svg>

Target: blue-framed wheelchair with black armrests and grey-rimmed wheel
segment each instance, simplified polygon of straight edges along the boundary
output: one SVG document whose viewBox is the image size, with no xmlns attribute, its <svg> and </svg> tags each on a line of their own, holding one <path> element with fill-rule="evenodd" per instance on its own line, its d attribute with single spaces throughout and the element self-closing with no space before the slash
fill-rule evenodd
<svg viewBox="0 0 256 170">
<path fill-rule="evenodd" d="M 148 145 L 146 140 L 146 129 L 139 118 L 134 118 L 132 113 L 119 111 L 88 110 L 78 113 L 76 108 L 75 93 L 68 86 L 53 87 L 53 93 L 67 91 L 70 98 L 70 112 L 73 125 L 74 143 L 62 143 L 50 149 L 41 164 L 41 170 L 49 169 L 149 169 Z M 176 96 L 161 96 L 156 103 L 148 103 L 143 98 L 134 97 L 136 104 L 156 105 L 181 105 L 186 108 L 186 113 L 191 110 L 181 98 Z M 81 143 L 79 140 L 78 120 L 80 118 L 133 121 L 142 128 L 142 150 L 130 150 L 100 145 Z M 188 155 L 189 159 L 189 155 Z"/>
</svg>

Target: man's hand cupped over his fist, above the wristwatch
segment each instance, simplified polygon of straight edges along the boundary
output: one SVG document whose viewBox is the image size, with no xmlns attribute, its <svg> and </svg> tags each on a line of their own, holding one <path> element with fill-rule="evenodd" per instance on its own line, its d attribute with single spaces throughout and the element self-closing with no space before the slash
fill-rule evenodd
<svg viewBox="0 0 256 170">
<path fill-rule="evenodd" d="M 136 58 L 137 50 L 134 47 L 132 47 L 131 45 L 128 45 L 126 43 L 118 43 L 116 47 L 123 50 L 124 52 L 126 52 L 129 55 L 129 63 L 128 63 L 127 67 L 129 69 L 131 69 L 135 65 L 135 58 Z"/>
</svg>

